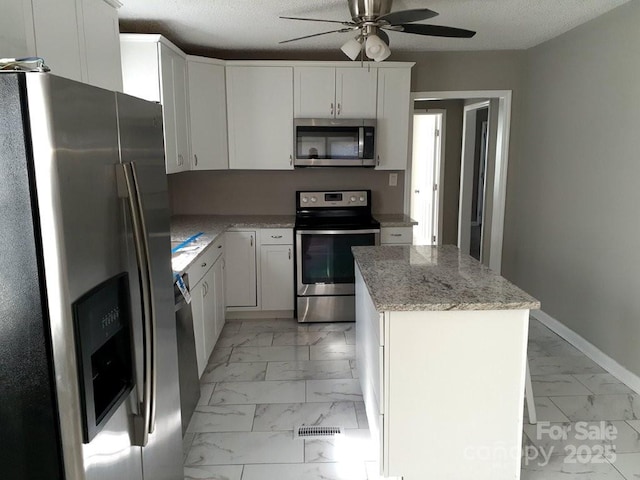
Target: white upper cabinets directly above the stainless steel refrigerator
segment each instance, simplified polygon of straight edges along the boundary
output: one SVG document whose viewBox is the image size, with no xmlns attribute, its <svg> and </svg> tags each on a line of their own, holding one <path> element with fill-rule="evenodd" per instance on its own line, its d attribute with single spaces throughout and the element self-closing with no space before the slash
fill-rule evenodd
<svg viewBox="0 0 640 480">
<path fill-rule="evenodd" d="M 15 0 L 0 15 L 4 57 L 42 57 L 51 73 L 122 89 L 117 0 Z"/>
</svg>

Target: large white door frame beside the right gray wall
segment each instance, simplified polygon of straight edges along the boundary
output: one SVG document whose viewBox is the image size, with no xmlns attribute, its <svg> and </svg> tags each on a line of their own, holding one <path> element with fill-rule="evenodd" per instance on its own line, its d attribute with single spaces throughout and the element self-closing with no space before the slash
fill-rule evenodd
<svg viewBox="0 0 640 480">
<path fill-rule="evenodd" d="M 502 268 L 502 243 L 504 236 L 504 217 L 507 197 L 507 167 L 509 165 L 509 139 L 511 135 L 511 90 L 460 90 L 460 91 L 425 91 L 411 92 L 411 126 L 413 131 L 413 110 L 418 100 L 468 100 L 468 99 L 497 99 L 498 100 L 498 129 L 496 135 L 496 165 L 493 190 L 493 211 L 491 216 L 491 243 L 489 268 L 500 273 Z M 411 148 L 409 142 L 409 148 Z M 410 157 L 411 158 L 411 157 Z M 410 212 L 411 165 L 407 165 L 405 175 L 405 205 L 406 214 Z M 441 175 L 444 173 L 442 169 Z M 441 189 L 443 190 L 443 189 Z M 442 193 L 442 192 L 441 192 Z M 440 204 L 442 209 L 442 204 Z"/>
</svg>

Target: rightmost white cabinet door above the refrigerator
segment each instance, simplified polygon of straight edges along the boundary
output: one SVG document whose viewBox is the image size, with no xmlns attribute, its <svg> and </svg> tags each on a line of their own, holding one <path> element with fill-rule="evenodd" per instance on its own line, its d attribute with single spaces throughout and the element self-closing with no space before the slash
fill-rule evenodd
<svg viewBox="0 0 640 480">
<path fill-rule="evenodd" d="M 104 0 L 82 0 L 87 83 L 122 91 L 118 11 Z"/>
</svg>

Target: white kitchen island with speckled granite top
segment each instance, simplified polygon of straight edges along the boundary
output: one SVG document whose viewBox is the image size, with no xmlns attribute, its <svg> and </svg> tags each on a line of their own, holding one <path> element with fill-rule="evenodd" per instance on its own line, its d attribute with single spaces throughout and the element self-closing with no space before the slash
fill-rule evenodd
<svg viewBox="0 0 640 480">
<path fill-rule="evenodd" d="M 356 355 L 380 474 L 520 478 L 529 310 L 456 247 L 354 247 Z"/>
</svg>

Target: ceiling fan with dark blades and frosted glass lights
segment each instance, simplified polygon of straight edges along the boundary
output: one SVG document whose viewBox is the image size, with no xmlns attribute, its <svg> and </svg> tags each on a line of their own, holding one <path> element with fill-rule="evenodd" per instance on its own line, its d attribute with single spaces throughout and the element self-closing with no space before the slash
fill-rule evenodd
<svg viewBox="0 0 640 480">
<path fill-rule="evenodd" d="M 280 43 L 295 42 L 306 38 L 318 37 L 329 33 L 346 33 L 357 31 L 358 35 L 344 45 L 342 51 L 355 60 L 361 52 L 376 62 L 381 62 L 391 55 L 389 36 L 385 30 L 400 33 L 413 33 L 433 37 L 471 38 L 476 32 L 462 28 L 444 27 L 441 25 L 415 24 L 438 15 L 428 8 L 391 11 L 393 0 L 347 0 L 352 21 L 323 20 L 317 18 L 280 17 L 288 20 L 304 20 L 307 22 L 337 23 L 342 28 L 328 32 L 305 35 L 304 37 L 284 40 Z"/>
</svg>

